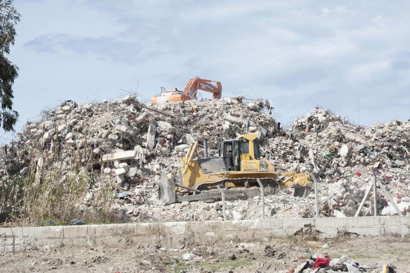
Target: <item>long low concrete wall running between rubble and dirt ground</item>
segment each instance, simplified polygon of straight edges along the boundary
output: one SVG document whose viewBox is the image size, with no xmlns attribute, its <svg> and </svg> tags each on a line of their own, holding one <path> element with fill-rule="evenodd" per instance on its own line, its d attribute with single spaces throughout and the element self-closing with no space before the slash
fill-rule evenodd
<svg viewBox="0 0 410 273">
<path fill-rule="evenodd" d="M 41 251 L 65 246 L 132 248 L 269 241 L 278 236 L 410 234 L 409 216 L 258 219 L 241 221 L 161 222 L 0 229 L 0 252 Z"/>
</svg>

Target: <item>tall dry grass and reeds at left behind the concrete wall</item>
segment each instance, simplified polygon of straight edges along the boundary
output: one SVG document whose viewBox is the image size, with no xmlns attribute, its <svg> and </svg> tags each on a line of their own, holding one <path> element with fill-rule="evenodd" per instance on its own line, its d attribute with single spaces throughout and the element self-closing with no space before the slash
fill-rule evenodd
<svg viewBox="0 0 410 273">
<path fill-rule="evenodd" d="M 110 208 L 113 200 L 111 183 L 102 183 L 92 206 L 81 208 L 84 195 L 96 182 L 84 167 L 80 172 L 62 174 L 58 167 L 42 176 L 32 172 L 26 177 L 14 176 L 0 187 L 1 222 L 6 226 L 41 226 L 52 220 L 68 223 L 73 218 L 86 222 L 116 221 Z"/>
</svg>

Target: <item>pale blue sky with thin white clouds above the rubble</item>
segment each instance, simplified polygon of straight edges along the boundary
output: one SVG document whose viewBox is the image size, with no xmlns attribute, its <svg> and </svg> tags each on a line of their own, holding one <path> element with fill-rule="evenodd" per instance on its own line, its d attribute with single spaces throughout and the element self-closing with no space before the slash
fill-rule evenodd
<svg viewBox="0 0 410 273">
<path fill-rule="evenodd" d="M 409 1 L 14 4 L 17 131 L 62 100 L 145 100 L 195 76 L 226 97 L 269 98 L 283 124 L 316 105 L 362 125 L 410 118 Z"/>
</svg>

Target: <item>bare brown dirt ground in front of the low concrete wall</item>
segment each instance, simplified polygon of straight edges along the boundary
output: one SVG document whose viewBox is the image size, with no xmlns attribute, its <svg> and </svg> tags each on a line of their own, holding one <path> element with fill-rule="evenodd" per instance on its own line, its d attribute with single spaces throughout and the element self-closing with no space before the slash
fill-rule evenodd
<svg viewBox="0 0 410 273">
<path fill-rule="evenodd" d="M 324 244 L 328 248 L 321 248 Z M 192 252 L 197 259 L 184 260 Z M 320 241 L 296 237 L 266 243 L 221 243 L 213 246 L 164 248 L 141 244 L 133 249 L 59 247 L 46 252 L 0 254 L 0 273 L 32 272 L 288 272 L 315 253 L 331 258 L 349 255 L 364 267 L 391 264 L 410 273 L 410 237 L 349 237 Z M 202 256 L 202 257 L 201 257 Z M 368 269 L 381 272 L 381 268 Z"/>
</svg>

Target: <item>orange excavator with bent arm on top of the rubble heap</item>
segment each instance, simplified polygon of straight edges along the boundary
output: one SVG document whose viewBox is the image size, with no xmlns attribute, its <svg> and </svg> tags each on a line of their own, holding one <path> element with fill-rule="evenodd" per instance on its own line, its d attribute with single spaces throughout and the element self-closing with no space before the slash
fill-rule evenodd
<svg viewBox="0 0 410 273">
<path fill-rule="evenodd" d="M 213 84 L 215 83 L 215 84 Z M 161 94 L 157 94 L 150 99 L 151 104 L 162 103 L 167 101 L 182 101 L 197 99 L 198 90 L 212 93 L 212 99 L 221 98 L 222 84 L 220 81 L 214 81 L 204 78 L 191 78 L 185 86 L 184 92 L 178 89 L 165 90 L 161 87 Z"/>
</svg>

